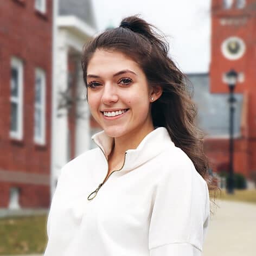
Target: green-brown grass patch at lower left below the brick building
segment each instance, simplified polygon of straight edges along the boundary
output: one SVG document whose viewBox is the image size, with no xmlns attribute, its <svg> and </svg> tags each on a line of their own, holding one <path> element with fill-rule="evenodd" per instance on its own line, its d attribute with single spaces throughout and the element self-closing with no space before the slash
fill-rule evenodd
<svg viewBox="0 0 256 256">
<path fill-rule="evenodd" d="M 0 255 L 43 253 L 47 215 L 0 219 Z"/>
</svg>

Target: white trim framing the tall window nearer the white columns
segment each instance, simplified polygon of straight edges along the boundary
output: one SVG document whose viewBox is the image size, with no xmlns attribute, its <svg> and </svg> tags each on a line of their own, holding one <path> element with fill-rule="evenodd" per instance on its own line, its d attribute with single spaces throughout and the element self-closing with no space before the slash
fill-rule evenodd
<svg viewBox="0 0 256 256">
<path fill-rule="evenodd" d="M 35 133 L 35 118 L 34 118 L 34 142 L 36 144 L 40 144 L 40 145 L 45 145 L 46 143 L 46 73 L 43 71 L 43 69 L 41 68 L 36 68 L 35 69 L 35 86 L 34 89 L 36 88 L 36 78 L 37 76 L 41 77 L 41 89 L 42 89 L 42 94 L 41 94 L 41 103 L 40 105 L 37 105 L 36 101 L 35 101 L 35 108 L 34 111 L 36 111 L 36 108 L 41 108 L 41 131 L 42 131 L 42 135 L 40 137 L 36 136 Z M 35 112 L 34 112 L 35 113 Z"/>
</svg>

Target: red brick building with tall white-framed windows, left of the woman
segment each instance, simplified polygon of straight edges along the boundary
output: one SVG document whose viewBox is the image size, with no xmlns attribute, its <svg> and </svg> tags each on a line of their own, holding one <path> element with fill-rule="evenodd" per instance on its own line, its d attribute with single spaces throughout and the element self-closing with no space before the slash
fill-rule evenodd
<svg viewBox="0 0 256 256">
<path fill-rule="evenodd" d="M 0 11 L 0 208 L 48 207 L 53 1 Z"/>
</svg>

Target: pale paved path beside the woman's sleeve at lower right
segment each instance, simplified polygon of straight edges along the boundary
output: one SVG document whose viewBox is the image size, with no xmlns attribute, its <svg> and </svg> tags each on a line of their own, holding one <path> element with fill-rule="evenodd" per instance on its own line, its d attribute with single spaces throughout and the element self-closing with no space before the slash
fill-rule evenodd
<svg viewBox="0 0 256 256">
<path fill-rule="evenodd" d="M 203 256 L 255 256 L 256 204 L 215 201 Z"/>
</svg>

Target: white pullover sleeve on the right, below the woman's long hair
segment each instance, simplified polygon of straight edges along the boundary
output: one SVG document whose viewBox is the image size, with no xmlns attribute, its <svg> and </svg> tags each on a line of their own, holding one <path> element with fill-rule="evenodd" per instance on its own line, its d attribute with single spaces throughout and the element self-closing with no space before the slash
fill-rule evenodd
<svg viewBox="0 0 256 256">
<path fill-rule="evenodd" d="M 157 184 L 149 227 L 150 256 L 201 256 L 208 224 L 207 183 L 191 160 L 184 161 Z"/>
</svg>

